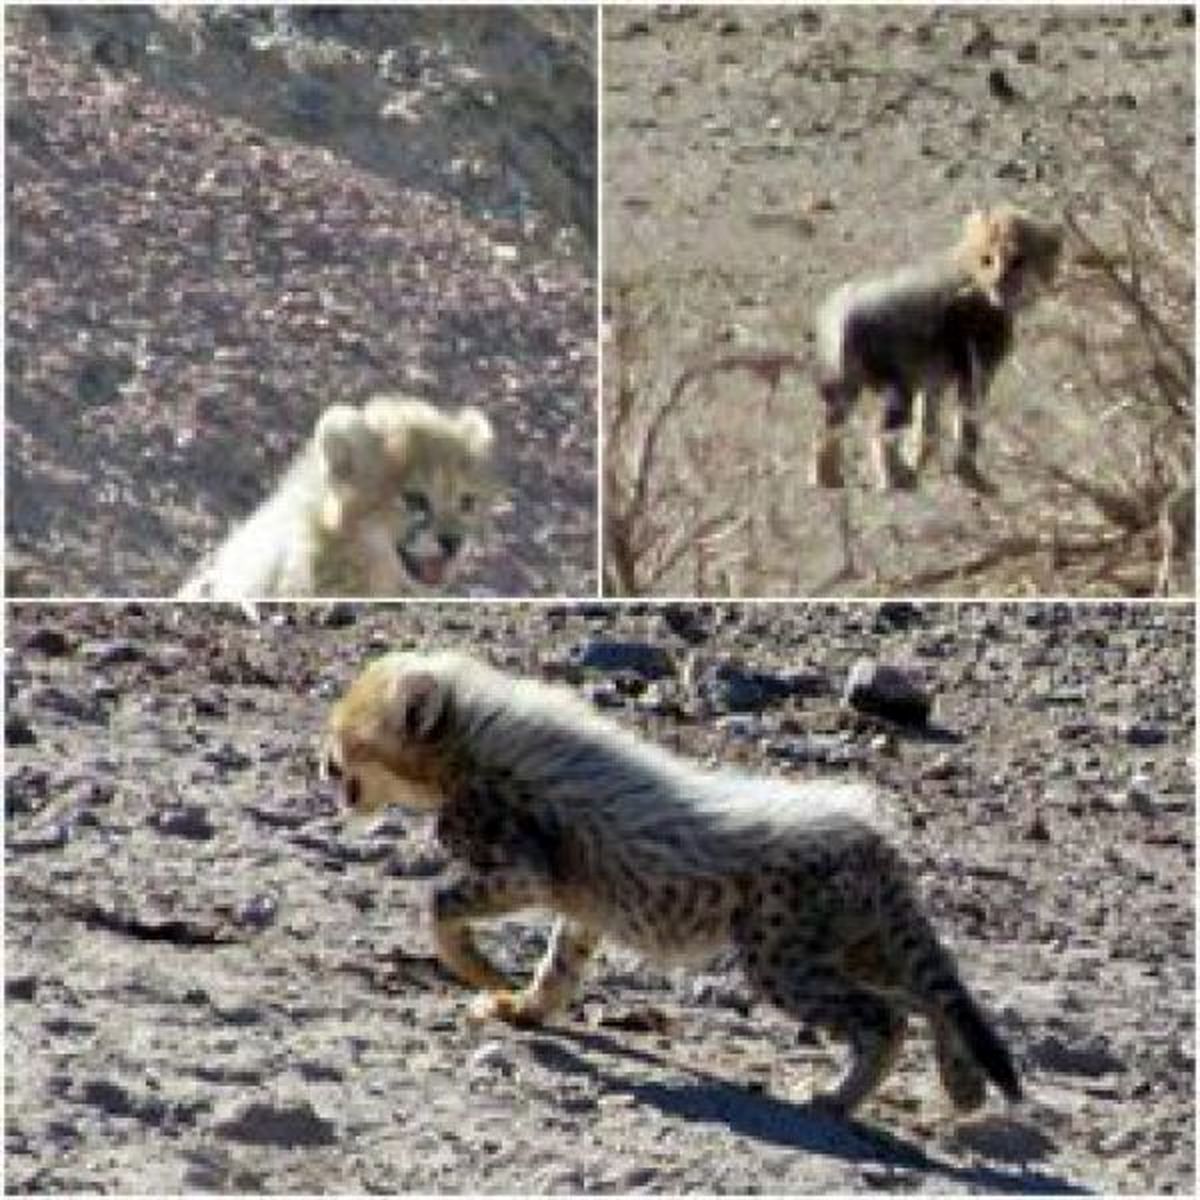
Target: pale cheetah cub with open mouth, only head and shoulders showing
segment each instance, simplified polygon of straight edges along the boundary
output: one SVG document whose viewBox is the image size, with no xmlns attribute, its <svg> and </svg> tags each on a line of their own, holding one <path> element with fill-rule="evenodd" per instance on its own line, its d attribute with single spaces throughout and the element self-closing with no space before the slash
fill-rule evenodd
<svg viewBox="0 0 1200 1200">
<path fill-rule="evenodd" d="M 444 584 L 490 490 L 492 427 L 402 396 L 334 404 L 180 598 L 388 596 Z"/>
</svg>

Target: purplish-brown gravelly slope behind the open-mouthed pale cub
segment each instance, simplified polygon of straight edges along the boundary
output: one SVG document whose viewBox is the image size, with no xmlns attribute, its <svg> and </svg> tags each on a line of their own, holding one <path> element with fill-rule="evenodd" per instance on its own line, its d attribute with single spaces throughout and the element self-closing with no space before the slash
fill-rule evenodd
<svg viewBox="0 0 1200 1200">
<path fill-rule="evenodd" d="M 482 406 L 468 594 L 595 592 L 595 18 L 5 13 L 8 594 L 169 595 L 331 401 Z"/>
</svg>

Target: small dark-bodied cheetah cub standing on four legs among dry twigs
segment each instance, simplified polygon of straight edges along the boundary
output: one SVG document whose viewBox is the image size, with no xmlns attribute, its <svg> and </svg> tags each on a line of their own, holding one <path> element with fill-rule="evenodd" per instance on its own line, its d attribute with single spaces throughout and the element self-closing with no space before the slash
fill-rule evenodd
<svg viewBox="0 0 1200 1200">
<path fill-rule="evenodd" d="M 954 384 L 954 472 L 992 491 L 977 462 L 979 407 L 1012 350 L 1016 313 L 1054 281 L 1061 251 L 1061 229 L 1003 204 L 972 212 L 949 253 L 838 288 L 816 314 L 824 401 L 816 486 L 842 486 L 842 428 L 871 388 L 881 398 L 871 440 L 878 486 L 914 487 L 940 439 L 940 394 Z M 911 461 L 900 446 L 906 430 Z"/>
</svg>

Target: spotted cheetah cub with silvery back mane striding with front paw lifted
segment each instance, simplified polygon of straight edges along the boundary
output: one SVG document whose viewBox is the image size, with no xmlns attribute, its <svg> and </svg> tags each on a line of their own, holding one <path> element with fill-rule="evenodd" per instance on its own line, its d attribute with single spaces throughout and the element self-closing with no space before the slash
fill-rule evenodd
<svg viewBox="0 0 1200 1200">
<path fill-rule="evenodd" d="M 456 862 L 433 898 L 438 954 L 482 989 L 476 1016 L 551 1016 L 602 936 L 667 961 L 732 946 L 764 996 L 848 1042 L 822 1106 L 848 1114 L 878 1087 L 912 1013 L 958 1109 L 983 1104 L 986 1079 L 1020 1097 L 865 787 L 706 772 L 563 689 L 454 653 L 368 666 L 334 708 L 325 766 L 353 811 L 437 814 Z M 558 919 L 515 989 L 472 923 L 534 907 Z"/>
</svg>

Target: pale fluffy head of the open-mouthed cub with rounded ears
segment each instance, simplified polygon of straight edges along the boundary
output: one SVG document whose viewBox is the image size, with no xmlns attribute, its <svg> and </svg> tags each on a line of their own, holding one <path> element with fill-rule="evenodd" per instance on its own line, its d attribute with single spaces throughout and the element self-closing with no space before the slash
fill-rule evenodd
<svg viewBox="0 0 1200 1200">
<path fill-rule="evenodd" d="M 418 590 L 440 588 L 492 491 L 487 418 L 380 396 L 361 410 L 329 409 L 317 437 L 325 527 L 353 529 L 371 558 L 397 563 Z"/>
</svg>

